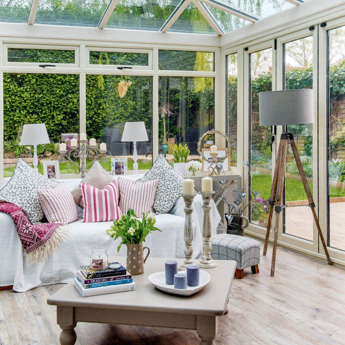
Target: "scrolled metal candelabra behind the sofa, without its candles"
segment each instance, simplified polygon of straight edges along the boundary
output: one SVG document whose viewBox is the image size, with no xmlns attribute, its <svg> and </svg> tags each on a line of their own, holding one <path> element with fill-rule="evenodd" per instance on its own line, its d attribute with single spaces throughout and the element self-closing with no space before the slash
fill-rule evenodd
<svg viewBox="0 0 345 345">
<path fill-rule="evenodd" d="M 98 150 L 97 146 L 87 145 L 87 140 L 80 140 L 79 146 L 71 146 L 68 153 L 67 150 L 59 151 L 58 162 L 67 162 L 68 170 L 72 170 L 73 173 L 76 174 L 81 172 L 81 177 L 85 177 L 86 170 L 92 166 L 95 161 L 106 162 L 108 160 L 106 155 L 107 152 L 108 150 Z M 86 159 L 93 157 L 95 157 L 93 161 L 86 165 Z M 73 161 L 75 158 L 79 158 L 80 164 Z M 75 166 L 74 169 L 73 166 Z"/>
</svg>

